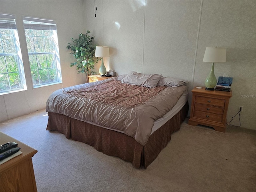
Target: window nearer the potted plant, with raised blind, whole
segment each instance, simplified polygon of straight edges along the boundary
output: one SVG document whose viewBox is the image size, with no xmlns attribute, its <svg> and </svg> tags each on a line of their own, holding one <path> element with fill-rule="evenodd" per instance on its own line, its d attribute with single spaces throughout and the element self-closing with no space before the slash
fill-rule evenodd
<svg viewBox="0 0 256 192">
<path fill-rule="evenodd" d="M 61 82 L 55 22 L 23 17 L 23 23 L 33 86 Z"/>
</svg>

